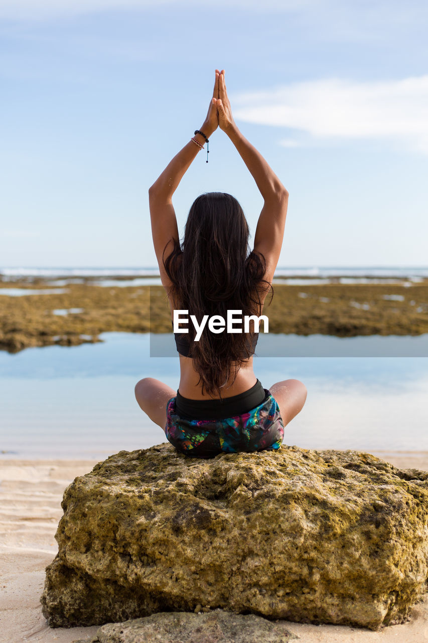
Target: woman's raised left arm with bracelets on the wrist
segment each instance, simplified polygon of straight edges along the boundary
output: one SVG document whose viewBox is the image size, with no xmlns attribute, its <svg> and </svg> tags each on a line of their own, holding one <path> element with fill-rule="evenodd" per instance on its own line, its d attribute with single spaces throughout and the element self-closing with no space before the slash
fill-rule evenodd
<svg viewBox="0 0 428 643">
<path fill-rule="evenodd" d="M 215 98 L 218 97 L 218 78 L 219 72 L 218 69 L 216 69 L 213 98 L 211 98 L 208 114 L 201 127 L 201 131 L 204 132 L 207 138 L 210 138 L 211 134 L 213 134 L 218 127 L 217 105 L 215 102 Z M 193 138 L 199 141 L 201 145 L 206 142 L 201 134 L 195 134 Z M 148 190 L 153 244 L 157 263 L 159 264 L 162 284 L 165 287 L 169 287 L 171 284 L 163 266 L 163 253 L 165 250 L 165 257 L 168 257 L 168 254 L 170 254 L 174 247 L 173 240 L 179 241 L 177 219 L 175 217 L 174 206 L 172 205 L 172 195 L 175 190 L 177 190 L 186 170 L 188 170 L 200 150 L 201 148 L 194 141 L 189 140 L 183 149 L 168 163 L 165 170 L 163 170 L 162 174 Z"/>
</svg>

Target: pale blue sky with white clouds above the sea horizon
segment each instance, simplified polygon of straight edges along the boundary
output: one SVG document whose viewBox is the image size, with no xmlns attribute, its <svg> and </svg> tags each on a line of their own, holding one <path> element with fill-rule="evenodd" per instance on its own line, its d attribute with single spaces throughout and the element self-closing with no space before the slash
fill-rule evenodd
<svg viewBox="0 0 428 643">
<path fill-rule="evenodd" d="M 0 266 L 156 266 L 148 188 L 215 68 L 289 191 L 278 266 L 428 264 L 424 0 L 0 0 Z M 174 194 L 263 206 L 224 132 Z"/>
</svg>

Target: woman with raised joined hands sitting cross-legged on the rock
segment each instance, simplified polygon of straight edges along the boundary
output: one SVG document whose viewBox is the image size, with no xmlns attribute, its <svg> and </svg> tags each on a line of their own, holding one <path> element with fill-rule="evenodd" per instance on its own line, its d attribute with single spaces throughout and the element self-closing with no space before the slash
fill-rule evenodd
<svg viewBox="0 0 428 643">
<path fill-rule="evenodd" d="M 242 208 L 234 197 L 221 192 L 195 200 L 183 244 L 179 243 L 172 195 L 217 127 L 235 145 L 264 199 L 251 253 Z M 224 69 L 215 71 L 213 98 L 201 130 L 172 159 L 148 194 L 154 248 L 172 318 L 178 310 L 188 311 L 189 319 L 193 314 L 199 325 L 204 315 L 226 319 L 227 310 L 260 316 L 280 257 L 289 195 L 236 127 Z M 246 333 L 221 332 L 219 325 L 213 325 L 211 332 L 205 327 L 199 341 L 195 341 L 194 325 L 189 323 L 187 328 L 187 334 L 182 326 L 182 332 L 175 334 L 179 390 L 145 377 L 135 387 L 139 406 L 186 455 L 207 458 L 222 452 L 278 449 L 284 427 L 305 404 L 305 385 L 287 379 L 269 390 L 262 387 L 253 370 L 258 336 L 254 326 Z"/>
</svg>

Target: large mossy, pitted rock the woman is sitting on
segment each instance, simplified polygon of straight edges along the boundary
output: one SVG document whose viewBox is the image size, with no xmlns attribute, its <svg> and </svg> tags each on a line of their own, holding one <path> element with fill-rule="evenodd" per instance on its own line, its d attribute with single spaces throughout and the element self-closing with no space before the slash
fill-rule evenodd
<svg viewBox="0 0 428 643">
<path fill-rule="evenodd" d="M 222 608 L 377 629 L 427 587 L 428 473 L 367 453 L 120 451 L 64 492 L 51 627 Z"/>
</svg>

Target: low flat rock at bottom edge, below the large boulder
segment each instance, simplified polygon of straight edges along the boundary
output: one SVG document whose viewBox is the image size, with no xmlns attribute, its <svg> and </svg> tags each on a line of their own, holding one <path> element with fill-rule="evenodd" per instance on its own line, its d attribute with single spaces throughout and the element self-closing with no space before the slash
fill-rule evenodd
<svg viewBox="0 0 428 643">
<path fill-rule="evenodd" d="M 96 636 L 74 643 L 287 643 L 297 638 L 281 621 L 215 610 L 209 614 L 161 612 L 109 623 Z"/>
</svg>

